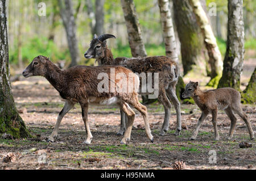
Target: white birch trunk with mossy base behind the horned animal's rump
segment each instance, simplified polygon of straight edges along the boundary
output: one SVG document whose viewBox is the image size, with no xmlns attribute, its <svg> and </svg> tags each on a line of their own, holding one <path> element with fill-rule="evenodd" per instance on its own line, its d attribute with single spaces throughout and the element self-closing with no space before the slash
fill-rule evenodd
<svg viewBox="0 0 256 181">
<path fill-rule="evenodd" d="M 162 29 L 164 35 L 164 44 L 166 46 L 166 56 L 171 57 L 177 64 L 179 64 L 179 57 L 177 53 L 174 25 L 172 23 L 171 10 L 168 0 L 158 0 L 160 9 Z M 181 92 L 184 91 L 185 83 L 182 77 L 179 76 L 179 81 L 176 85 L 177 98 L 181 99 Z"/>
</svg>

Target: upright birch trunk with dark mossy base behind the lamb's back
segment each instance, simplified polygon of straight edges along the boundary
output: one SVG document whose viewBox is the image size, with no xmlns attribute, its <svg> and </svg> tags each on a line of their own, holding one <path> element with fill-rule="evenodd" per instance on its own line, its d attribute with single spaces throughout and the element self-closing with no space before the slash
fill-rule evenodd
<svg viewBox="0 0 256 181">
<path fill-rule="evenodd" d="M 233 87 L 240 90 L 245 32 L 243 27 L 243 1 L 228 1 L 228 39 L 224 69 L 218 88 Z"/>
</svg>

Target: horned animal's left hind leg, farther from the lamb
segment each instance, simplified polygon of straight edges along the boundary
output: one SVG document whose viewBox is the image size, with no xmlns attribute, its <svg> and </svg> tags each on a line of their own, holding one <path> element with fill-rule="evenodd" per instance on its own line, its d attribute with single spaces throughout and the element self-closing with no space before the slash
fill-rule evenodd
<svg viewBox="0 0 256 181">
<path fill-rule="evenodd" d="M 164 107 L 164 122 L 163 122 L 162 129 L 160 131 L 160 135 L 164 136 L 164 134 L 166 134 L 166 132 L 169 129 L 172 105 L 170 103 L 170 100 L 166 96 L 166 90 L 164 90 L 164 88 L 160 89 L 158 99 L 163 104 L 163 107 Z"/>
</svg>

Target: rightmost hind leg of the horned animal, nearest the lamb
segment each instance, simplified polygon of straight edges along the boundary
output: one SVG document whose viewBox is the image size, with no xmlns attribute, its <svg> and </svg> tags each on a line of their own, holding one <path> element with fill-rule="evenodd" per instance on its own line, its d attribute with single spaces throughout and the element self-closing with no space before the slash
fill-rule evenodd
<svg viewBox="0 0 256 181">
<path fill-rule="evenodd" d="M 170 85 L 167 90 L 167 94 L 171 99 L 172 104 L 174 104 L 176 116 L 177 116 L 177 125 L 176 125 L 176 132 L 174 133 L 176 136 L 180 135 L 181 131 L 181 113 L 180 113 L 180 102 L 177 98 L 175 88 Z"/>
</svg>

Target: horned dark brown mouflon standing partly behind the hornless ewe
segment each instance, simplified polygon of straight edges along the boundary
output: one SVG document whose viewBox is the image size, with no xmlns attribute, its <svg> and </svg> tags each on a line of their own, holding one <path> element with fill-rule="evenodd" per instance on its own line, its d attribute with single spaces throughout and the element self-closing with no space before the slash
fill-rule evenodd
<svg viewBox="0 0 256 181">
<path fill-rule="evenodd" d="M 176 96 L 176 84 L 179 77 L 179 68 L 175 61 L 167 56 L 154 56 L 154 57 L 138 57 L 138 58 L 126 58 L 118 57 L 113 58 L 113 54 L 108 46 L 106 45 L 106 40 L 109 38 L 115 38 L 114 35 L 104 34 L 99 37 L 94 35 L 93 40 L 90 43 L 89 49 L 85 52 L 85 58 L 96 58 L 99 65 L 122 65 L 126 68 L 132 70 L 134 73 L 143 74 L 146 76 L 147 81 L 148 75 L 153 75 L 158 73 L 159 75 L 159 87 L 155 89 L 158 91 L 156 98 L 164 106 L 164 123 L 160 131 L 160 135 L 164 135 L 169 128 L 169 121 L 171 116 L 171 102 L 174 104 L 176 115 L 177 115 L 177 125 L 175 135 L 179 135 L 181 131 L 181 114 L 180 114 L 180 102 Z M 152 82 L 154 78 L 152 78 Z M 150 83 L 150 82 L 147 82 Z M 147 85 L 142 85 L 141 81 L 140 89 L 147 89 L 146 92 L 139 92 L 139 94 L 152 94 L 145 88 Z M 152 84 L 154 85 L 154 84 Z M 142 88 L 143 87 L 143 88 Z M 154 87 L 155 88 L 155 87 Z M 170 100 L 169 100 L 170 99 Z M 121 111 L 121 127 L 118 134 L 123 134 L 125 131 L 125 121 Z"/>
</svg>

